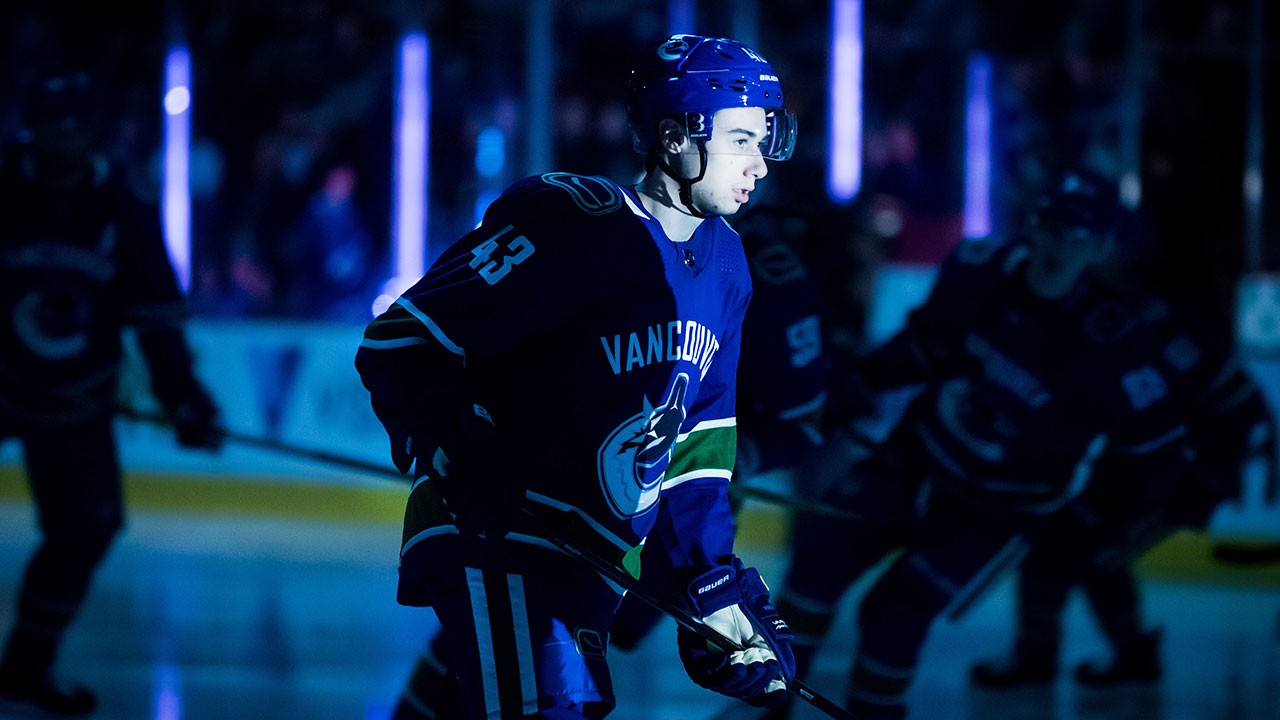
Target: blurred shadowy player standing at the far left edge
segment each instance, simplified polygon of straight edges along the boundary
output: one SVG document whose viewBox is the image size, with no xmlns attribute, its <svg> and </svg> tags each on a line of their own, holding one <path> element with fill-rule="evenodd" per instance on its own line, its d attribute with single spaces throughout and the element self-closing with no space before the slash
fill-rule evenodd
<svg viewBox="0 0 1280 720">
<path fill-rule="evenodd" d="M 74 716 L 95 696 L 52 676 L 55 655 L 123 519 L 111 432 L 124 325 L 178 442 L 216 448 L 216 410 L 192 374 L 186 306 L 160 214 L 101 154 L 86 73 L 38 83 L 24 142 L 0 163 L 0 439 L 23 445 L 42 541 L 0 657 L 0 714 Z"/>
</svg>

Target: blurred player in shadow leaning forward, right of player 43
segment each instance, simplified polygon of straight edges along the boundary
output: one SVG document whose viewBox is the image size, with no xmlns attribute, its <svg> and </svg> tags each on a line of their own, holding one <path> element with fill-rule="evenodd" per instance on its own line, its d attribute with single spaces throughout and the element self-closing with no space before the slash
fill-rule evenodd
<svg viewBox="0 0 1280 720">
<path fill-rule="evenodd" d="M 864 357 L 872 389 L 922 389 L 824 495 L 867 519 L 799 525 L 780 600 L 803 671 L 849 584 L 904 547 L 859 607 L 859 717 L 905 715 L 933 620 L 1079 495 L 1094 461 L 1171 451 L 1181 433 L 1147 324 L 1092 279 L 1117 218 L 1110 183 L 1068 174 L 1024 241 L 964 243 L 906 327 Z"/>
</svg>

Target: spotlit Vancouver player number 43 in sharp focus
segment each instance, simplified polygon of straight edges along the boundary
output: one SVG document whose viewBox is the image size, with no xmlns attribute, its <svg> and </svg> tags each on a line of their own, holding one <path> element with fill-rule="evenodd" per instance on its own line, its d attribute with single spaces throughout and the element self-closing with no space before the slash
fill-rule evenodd
<svg viewBox="0 0 1280 720">
<path fill-rule="evenodd" d="M 622 588 L 522 509 L 746 646 L 678 635 L 690 676 L 753 703 L 792 678 L 790 632 L 733 556 L 735 374 L 751 287 L 724 222 L 790 156 L 792 115 L 745 45 L 677 35 L 632 70 L 646 174 L 547 173 L 367 328 L 356 366 L 417 478 L 398 600 L 435 609 L 470 717 L 603 717 Z M 445 702 L 444 698 L 422 698 Z"/>
</svg>

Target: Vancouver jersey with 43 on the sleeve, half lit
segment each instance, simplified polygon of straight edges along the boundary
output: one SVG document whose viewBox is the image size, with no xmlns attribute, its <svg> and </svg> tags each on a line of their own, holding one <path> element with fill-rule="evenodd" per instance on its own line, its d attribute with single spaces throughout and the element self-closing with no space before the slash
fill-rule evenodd
<svg viewBox="0 0 1280 720">
<path fill-rule="evenodd" d="M 716 565 L 732 552 L 727 483 L 750 292 L 722 219 L 672 242 L 631 190 L 548 173 L 508 188 L 369 325 L 356 366 L 393 445 L 458 397 L 479 402 L 531 506 L 628 562 L 648 537 L 677 568 Z M 429 602 L 422 573 L 467 543 L 419 480 L 401 602 Z"/>
</svg>

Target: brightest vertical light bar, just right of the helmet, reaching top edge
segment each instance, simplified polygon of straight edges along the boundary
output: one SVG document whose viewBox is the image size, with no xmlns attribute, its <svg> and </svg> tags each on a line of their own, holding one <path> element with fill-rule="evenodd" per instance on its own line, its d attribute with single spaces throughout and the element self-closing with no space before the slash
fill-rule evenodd
<svg viewBox="0 0 1280 720">
<path fill-rule="evenodd" d="M 863 183 L 863 3 L 831 4 L 827 193 L 847 204 Z"/>
</svg>

